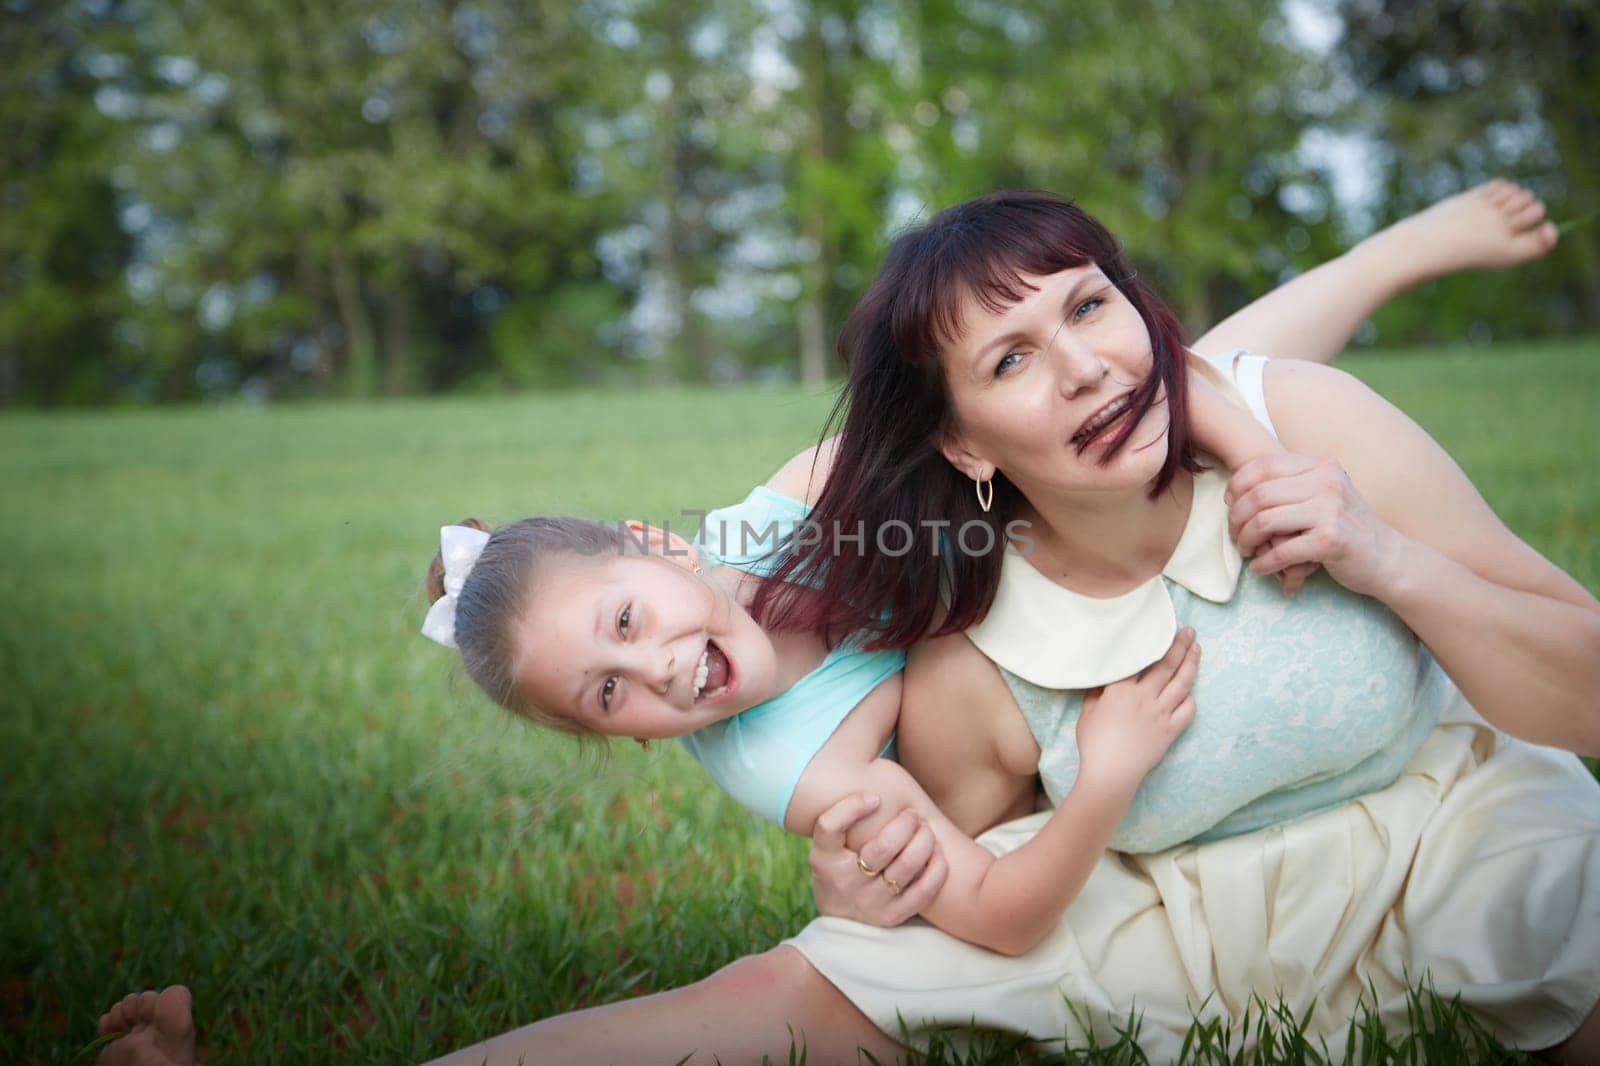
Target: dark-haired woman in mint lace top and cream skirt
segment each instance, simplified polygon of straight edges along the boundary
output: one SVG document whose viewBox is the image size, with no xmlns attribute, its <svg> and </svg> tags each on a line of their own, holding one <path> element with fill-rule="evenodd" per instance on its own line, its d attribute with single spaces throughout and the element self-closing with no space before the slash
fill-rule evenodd
<svg viewBox="0 0 1600 1066">
<path fill-rule="evenodd" d="M 947 603 L 899 595 L 877 629 L 886 647 L 936 631 L 907 664 L 901 755 L 965 824 L 1018 813 L 1034 770 L 1051 794 L 1070 783 L 1082 690 L 1194 626 L 1208 664 L 1200 714 L 1163 760 L 1165 786 L 1147 779 L 1152 836 L 1128 848 L 1158 853 L 1107 860 L 1059 936 L 1006 965 L 920 927 L 822 920 L 795 946 L 882 1028 L 902 1013 L 914 1034 L 976 1018 L 1104 1037 L 1139 1002 L 1141 1040 L 1160 1060 L 1178 1053 L 1190 1012 L 1237 1023 L 1253 996 L 1283 996 L 1294 1016 L 1331 1005 L 1312 1037 L 1338 1047 L 1357 997 L 1403 1023 L 1406 988 L 1432 970 L 1507 1042 L 1576 1040 L 1566 1053 L 1592 1061 L 1600 789 L 1576 759 L 1512 736 L 1600 752 L 1600 605 L 1504 530 L 1426 434 L 1331 370 L 1224 360 L 1291 451 L 1331 458 L 1269 458 L 1232 482 L 1195 474 L 1170 330 L 1126 279 L 1109 234 L 1051 197 L 986 197 L 902 238 L 846 327 L 851 407 L 813 520 L 872 528 L 933 511 L 960 523 L 978 514 L 970 483 L 992 483 L 990 519 L 1027 520 L 1032 554 L 802 549 L 789 575 L 830 602 L 776 610 L 874 627 L 899 591 L 952 589 Z M 888 419 L 883 395 L 910 397 L 896 408 L 907 413 Z M 1229 533 L 1258 554 L 1248 575 L 1214 551 Z M 1342 589 L 1320 583 L 1298 613 L 1264 594 L 1259 575 L 1306 562 Z M 1386 659 L 1400 645 L 1318 624 L 1336 610 L 1403 621 L 1427 648 L 1416 667 Z M 1206 691 L 1206 671 L 1232 699 Z M 1235 812 L 1229 831 L 1299 821 L 1171 847 L 1190 808 L 1226 799 L 1259 752 L 1270 765 L 1317 757 L 1418 703 L 1442 728 L 1394 786 L 1330 808 L 1338 791 L 1310 792 L 1336 778 L 1318 779 Z M 1272 730 L 1240 728 L 1229 746 L 1197 736 L 1238 707 Z M 1274 749 L 1285 733 L 1296 744 Z M 989 844 L 1003 853 L 1029 831 Z"/>
</svg>

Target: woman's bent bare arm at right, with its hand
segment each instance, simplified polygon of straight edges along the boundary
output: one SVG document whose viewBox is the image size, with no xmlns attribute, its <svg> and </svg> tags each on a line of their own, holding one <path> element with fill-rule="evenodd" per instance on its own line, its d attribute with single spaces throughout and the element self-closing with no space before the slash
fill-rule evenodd
<svg viewBox="0 0 1600 1066">
<path fill-rule="evenodd" d="M 1387 603 L 1467 701 L 1525 739 L 1600 754 L 1600 603 L 1507 530 L 1461 467 L 1349 375 L 1269 363 L 1283 443 L 1229 487 L 1240 551 L 1278 544 L 1256 573 L 1320 562 Z"/>
</svg>

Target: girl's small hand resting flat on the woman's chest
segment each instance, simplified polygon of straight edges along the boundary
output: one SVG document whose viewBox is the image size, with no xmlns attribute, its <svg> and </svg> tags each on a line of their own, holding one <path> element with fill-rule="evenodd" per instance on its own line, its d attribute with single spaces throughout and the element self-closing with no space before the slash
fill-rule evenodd
<svg viewBox="0 0 1600 1066">
<path fill-rule="evenodd" d="M 1136 789 L 1194 720 L 1189 690 L 1198 669 L 1200 643 L 1184 627 L 1157 663 L 1090 691 L 1078 715 L 1078 778 Z"/>
</svg>

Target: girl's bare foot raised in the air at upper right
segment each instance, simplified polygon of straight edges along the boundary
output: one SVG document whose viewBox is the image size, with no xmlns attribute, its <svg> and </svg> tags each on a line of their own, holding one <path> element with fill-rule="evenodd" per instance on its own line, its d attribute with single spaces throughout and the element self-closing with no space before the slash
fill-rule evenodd
<svg viewBox="0 0 1600 1066">
<path fill-rule="evenodd" d="M 1504 178 L 1486 181 L 1373 234 L 1352 250 L 1373 266 L 1398 266 L 1414 285 L 1482 267 L 1514 267 L 1555 248 L 1544 202 Z"/>
</svg>

